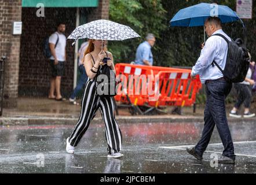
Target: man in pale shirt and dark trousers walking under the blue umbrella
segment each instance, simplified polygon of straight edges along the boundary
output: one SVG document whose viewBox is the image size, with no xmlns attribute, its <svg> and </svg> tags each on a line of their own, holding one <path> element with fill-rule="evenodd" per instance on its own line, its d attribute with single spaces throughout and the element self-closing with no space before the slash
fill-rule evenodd
<svg viewBox="0 0 256 185">
<path fill-rule="evenodd" d="M 218 162 L 235 164 L 234 146 L 225 110 L 225 98 L 231 91 L 232 83 L 224 78 L 216 65 L 212 65 L 212 62 L 215 61 L 224 69 L 228 54 L 227 42 L 215 34 L 224 35 L 228 40 L 231 38 L 222 31 L 221 20 L 218 17 L 208 17 L 204 23 L 204 28 L 210 38 L 207 39 L 191 72 L 191 77 L 199 75 L 201 82 L 206 84 L 207 101 L 204 108 L 204 128 L 198 144 L 192 149 L 186 149 L 186 151 L 198 160 L 202 160 L 216 125 L 224 145 L 224 151 Z"/>
</svg>

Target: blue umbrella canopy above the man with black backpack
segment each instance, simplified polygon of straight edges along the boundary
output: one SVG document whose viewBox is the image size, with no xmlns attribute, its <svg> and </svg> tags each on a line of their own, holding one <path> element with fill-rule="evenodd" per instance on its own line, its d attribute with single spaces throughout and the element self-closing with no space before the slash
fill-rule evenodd
<svg viewBox="0 0 256 185">
<path fill-rule="evenodd" d="M 178 11 L 178 13 L 171 19 L 170 24 L 173 27 L 202 26 L 204 25 L 206 18 L 210 16 L 218 16 L 222 23 L 240 20 L 236 12 L 228 6 L 200 3 Z"/>
</svg>

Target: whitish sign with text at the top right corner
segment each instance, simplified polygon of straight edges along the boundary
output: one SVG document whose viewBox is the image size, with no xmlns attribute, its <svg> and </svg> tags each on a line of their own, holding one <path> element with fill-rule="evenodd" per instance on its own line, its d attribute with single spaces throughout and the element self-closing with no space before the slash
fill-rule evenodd
<svg viewBox="0 0 256 185">
<path fill-rule="evenodd" d="M 236 0 L 236 13 L 240 18 L 252 18 L 253 0 Z"/>
</svg>

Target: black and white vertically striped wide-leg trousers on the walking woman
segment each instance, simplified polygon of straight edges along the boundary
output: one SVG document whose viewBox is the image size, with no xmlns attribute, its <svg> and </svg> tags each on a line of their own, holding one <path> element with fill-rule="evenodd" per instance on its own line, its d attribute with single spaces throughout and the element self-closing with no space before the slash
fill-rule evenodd
<svg viewBox="0 0 256 185">
<path fill-rule="evenodd" d="M 122 147 L 122 133 L 116 123 L 114 106 L 113 97 L 99 97 L 97 94 L 96 82 L 88 80 L 85 85 L 85 91 L 83 92 L 81 114 L 78 123 L 69 138 L 70 145 L 78 145 L 89 127 L 90 122 L 96 116 L 97 110 L 100 108 L 105 123 L 108 154 L 118 153 Z"/>
</svg>

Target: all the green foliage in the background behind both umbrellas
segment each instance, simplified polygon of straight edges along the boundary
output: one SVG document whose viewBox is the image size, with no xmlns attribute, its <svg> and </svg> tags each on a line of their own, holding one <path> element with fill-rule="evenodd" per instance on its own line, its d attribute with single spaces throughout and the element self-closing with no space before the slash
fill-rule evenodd
<svg viewBox="0 0 256 185">
<path fill-rule="evenodd" d="M 110 0 L 109 15 L 112 21 L 129 25 L 141 38 L 109 42 L 109 50 L 115 56 L 115 62 L 133 61 L 137 46 L 148 32 L 156 35 L 156 44 L 152 48 L 154 64 L 159 66 L 193 66 L 200 55 L 203 42 L 203 27 L 170 27 L 171 18 L 178 10 L 201 2 L 227 5 L 236 10 L 236 1 L 220 0 Z M 247 48 L 256 60 L 256 0 L 253 0 L 253 19 L 243 20 L 244 29 L 239 22 L 223 25 L 224 31 L 233 39 L 247 40 Z"/>
</svg>

